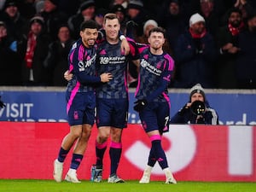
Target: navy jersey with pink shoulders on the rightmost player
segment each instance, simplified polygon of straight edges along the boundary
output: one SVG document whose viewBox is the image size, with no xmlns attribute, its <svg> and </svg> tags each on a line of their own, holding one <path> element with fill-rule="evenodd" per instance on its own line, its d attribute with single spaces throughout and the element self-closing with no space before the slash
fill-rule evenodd
<svg viewBox="0 0 256 192">
<path fill-rule="evenodd" d="M 164 81 L 171 81 L 174 61 L 166 53 L 153 55 L 148 45 L 141 47 L 139 52 L 140 67 L 135 96 L 137 99 L 143 99 L 152 95 Z M 167 86 L 159 96 L 154 97 L 153 101 L 166 102 L 166 100 L 169 101 Z"/>
</svg>

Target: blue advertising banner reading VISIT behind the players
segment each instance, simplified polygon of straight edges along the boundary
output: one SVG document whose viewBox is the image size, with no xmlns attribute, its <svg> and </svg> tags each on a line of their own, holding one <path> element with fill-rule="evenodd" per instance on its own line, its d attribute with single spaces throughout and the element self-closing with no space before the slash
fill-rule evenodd
<svg viewBox="0 0 256 192">
<path fill-rule="evenodd" d="M 140 123 L 133 110 L 134 92 L 130 92 L 129 123 Z M 6 108 L 0 109 L 0 121 L 65 122 L 65 91 L 0 90 Z M 171 117 L 189 101 L 189 93 L 170 93 Z M 221 125 L 256 125 L 256 94 L 207 93 Z"/>
</svg>

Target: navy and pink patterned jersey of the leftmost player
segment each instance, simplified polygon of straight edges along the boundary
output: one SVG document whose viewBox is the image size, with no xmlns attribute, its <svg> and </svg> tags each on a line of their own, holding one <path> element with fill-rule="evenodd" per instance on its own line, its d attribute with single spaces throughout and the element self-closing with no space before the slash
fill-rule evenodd
<svg viewBox="0 0 256 192">
<path fill-rule="evenodd" d="M 73 73 L 73 79 L 67 84 L 67 91 L 76 89 L 78 92 L 94 91 L 95 88 L 91 82 L 79 82 L 78 77 L 87 75 L 96 76 L 96 47 L 86 48 L 79 39 L 73 44 L 68 55 L 69 73 Z"/>
</svg>

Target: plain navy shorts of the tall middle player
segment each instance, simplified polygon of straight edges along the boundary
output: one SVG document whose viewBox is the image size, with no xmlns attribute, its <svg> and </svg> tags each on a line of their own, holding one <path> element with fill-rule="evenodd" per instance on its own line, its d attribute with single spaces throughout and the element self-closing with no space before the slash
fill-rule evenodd
<svg viewBox="0 0 256 192">
<path fill-rule="evenodd" d="M 113 126 L 116 128 L 127 127 L 128 100 L 127 99 L 102 99 L 96 100 L 96 125 Z"/>
</svg>

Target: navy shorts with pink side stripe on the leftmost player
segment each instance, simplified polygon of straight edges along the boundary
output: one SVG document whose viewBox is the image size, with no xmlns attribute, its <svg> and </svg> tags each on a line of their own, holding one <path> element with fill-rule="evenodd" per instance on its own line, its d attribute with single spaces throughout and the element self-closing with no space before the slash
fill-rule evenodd
<svg viewBox="0 0 256 192">
<path fill-rule="evenodd" d="M 69 125 L 93 125 L 95 123 L 96 96 L 91 92 L 67 91 L 67 121 Z"/>
</svg>

